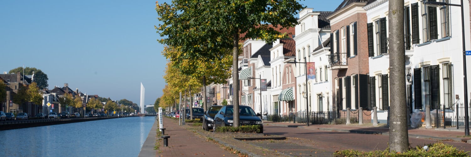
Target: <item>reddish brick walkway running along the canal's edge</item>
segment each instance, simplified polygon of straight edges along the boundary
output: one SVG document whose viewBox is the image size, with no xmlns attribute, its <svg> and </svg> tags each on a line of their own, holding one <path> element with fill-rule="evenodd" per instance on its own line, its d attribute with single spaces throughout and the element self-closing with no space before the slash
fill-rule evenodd
<svg viewBox="0 0 471 157">
<path fill-rule="evenodd" d="M 180 126 L 178 121 L 164 117 L 163 126 L 166 129 L 165 135 L 170 135 L 168 147 L 163 147 L 163 140 L 160 140 L 160 147 L 156 150 L 156 157 L 237 157 L 237 155 L 222 149 L 214 142 L 197 137 L 195 133 Z"/>
</svg>

